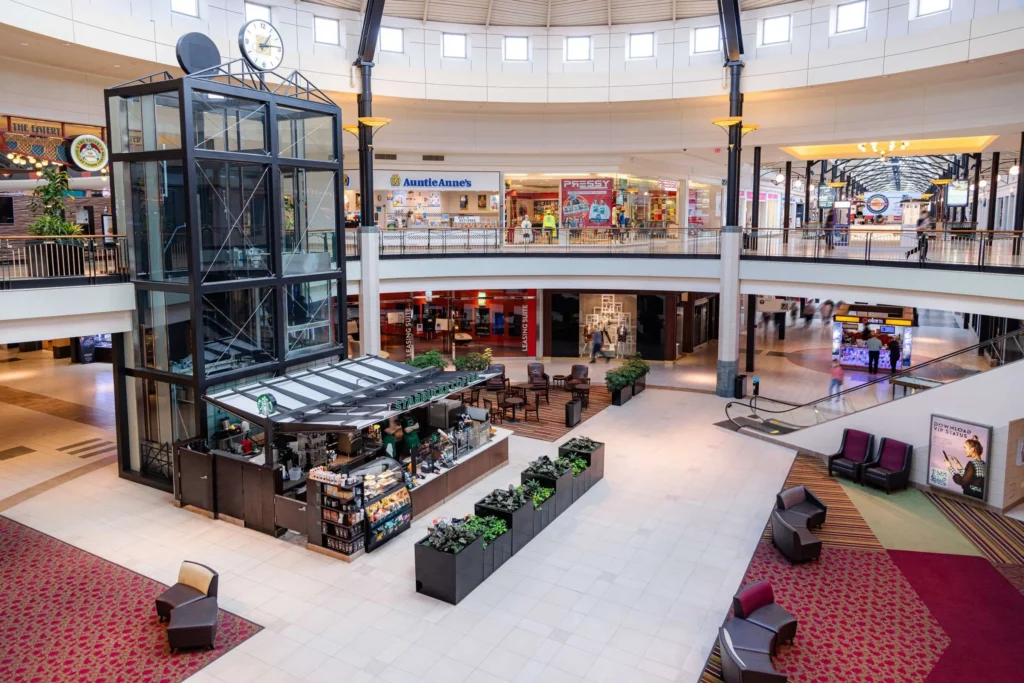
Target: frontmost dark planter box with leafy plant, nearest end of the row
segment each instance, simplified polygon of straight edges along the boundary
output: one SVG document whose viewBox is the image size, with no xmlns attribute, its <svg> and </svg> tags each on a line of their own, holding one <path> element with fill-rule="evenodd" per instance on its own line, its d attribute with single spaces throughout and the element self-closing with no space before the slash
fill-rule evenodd
<svg viewBox="0 0 1024 683">
<path fill-rule="evenodd" d="M 438 524 L 416 544 L 416 592 L 459 602 L 483 581 L 483 537 L 467 523 Z"/>
</svg>

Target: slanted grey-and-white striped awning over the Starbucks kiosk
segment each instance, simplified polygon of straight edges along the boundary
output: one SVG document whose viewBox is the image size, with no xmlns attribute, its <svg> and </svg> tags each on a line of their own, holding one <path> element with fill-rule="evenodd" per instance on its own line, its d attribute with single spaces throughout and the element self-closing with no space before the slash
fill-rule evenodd
<svg viewBox="0 0 1024 683">
<path fill-rule="evenodd" d="M 351 431 L 485 382 L 497 373 L 419 369 L 367 355 L 253 380 L 203 398 L 285 432 Z"/>
</svg>

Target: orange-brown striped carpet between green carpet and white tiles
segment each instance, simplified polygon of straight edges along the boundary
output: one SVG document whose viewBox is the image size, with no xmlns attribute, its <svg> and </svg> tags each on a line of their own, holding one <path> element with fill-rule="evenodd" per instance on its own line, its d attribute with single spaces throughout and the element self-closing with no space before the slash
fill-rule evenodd
<svg viewBox="0 0 1024 683">
<path fill-rule="evenodd" d="M 785 478 L 785 488 L 805 485 L 828 506 L 824 525 L 814 530 L 823 546 L 852 548 L 854 550 L 883 550 L 874 532 L 860 516 L 843 486 L 828 476 L 828 467 L 815 456 L 800 454 L 793 462 L 790 475 Z M 771 540 L 771 524 L 765 527 L 763 537 Z"/>
</svg>

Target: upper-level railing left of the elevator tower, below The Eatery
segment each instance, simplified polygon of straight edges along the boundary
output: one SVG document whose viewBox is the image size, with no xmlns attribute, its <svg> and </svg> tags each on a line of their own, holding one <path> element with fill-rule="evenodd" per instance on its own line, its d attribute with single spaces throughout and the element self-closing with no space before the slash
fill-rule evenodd
<svg viewBox="0 0 1024 683">
<path fill-rule="evenodd" d="M 127 280 L 128 247 L 122 236 L 0 238 L 4 289 Z"/>
</svg>

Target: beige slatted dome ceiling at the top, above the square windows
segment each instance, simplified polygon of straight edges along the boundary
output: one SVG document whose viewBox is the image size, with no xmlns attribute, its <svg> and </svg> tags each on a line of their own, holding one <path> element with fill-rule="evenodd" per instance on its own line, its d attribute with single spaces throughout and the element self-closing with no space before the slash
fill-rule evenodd
<svg viewBox="0 0 1024 683">
<path fill-rule="evenodd" d="M 742 9 L 793 0 L 740 0 Z M 360 11 L 365 0 L 306 0 Z M 575 27 L 671 22 L 718 14 L 717 0 L 387 0 L 387 16 L 481 26 Z"/>
</svg>

